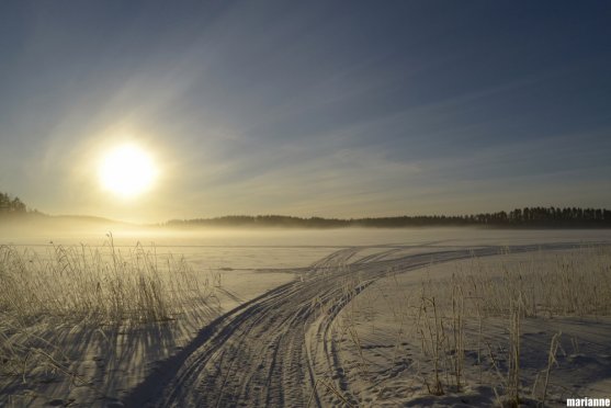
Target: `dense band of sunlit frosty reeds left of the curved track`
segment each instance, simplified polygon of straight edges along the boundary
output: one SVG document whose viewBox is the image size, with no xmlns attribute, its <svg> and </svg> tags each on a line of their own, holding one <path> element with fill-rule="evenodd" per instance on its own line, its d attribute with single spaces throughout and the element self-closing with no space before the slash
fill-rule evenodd
<svg viewBox="0 0 611 408">
<path fill-rule="evenodd" d="M 213 295 L 183 258 L 155 247 L 117 249 L 109 236 L 99 249 L 53 246 L 46 257 L 0 247 L 0 309 L 24 324 L 47 316 L 103 324 L 170 319 Z"/>
</svg>

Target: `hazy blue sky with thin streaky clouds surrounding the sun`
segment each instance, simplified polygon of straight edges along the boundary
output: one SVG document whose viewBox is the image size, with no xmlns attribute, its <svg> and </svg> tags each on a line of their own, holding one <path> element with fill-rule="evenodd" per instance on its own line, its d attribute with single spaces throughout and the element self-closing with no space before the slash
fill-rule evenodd
<svg viewBox="0 0 611 408">
<path fill-rule="evenodd" d="M 608 1 L 3 1 L 0 191 L 133 222 L 611 207 Z M 126 200 L 99 163 L 146 150 Z"/>
</svg>

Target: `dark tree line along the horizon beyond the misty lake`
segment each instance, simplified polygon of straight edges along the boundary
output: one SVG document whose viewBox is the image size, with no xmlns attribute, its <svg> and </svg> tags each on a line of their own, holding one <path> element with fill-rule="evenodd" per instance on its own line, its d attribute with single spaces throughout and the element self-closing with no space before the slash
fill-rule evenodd
<svg viewBox="0 0 611 408">
<path fill-rule="evenodd" d="M 0 217 L 37 215 L 19 199 L 0 193 Z M 376 218 L 321 218 L 284 215 L 230 215 L 216 218 L 172 219 L 165 224 L 172 227 L 286 227 L 286 228 L 401 228 L 441 226 L 485 226 L 498 228 L 611 228 L 611 211 L 581 207 L 524 207 L 509 213 L 474 215 L 417 215 Z"/>
</svg>

